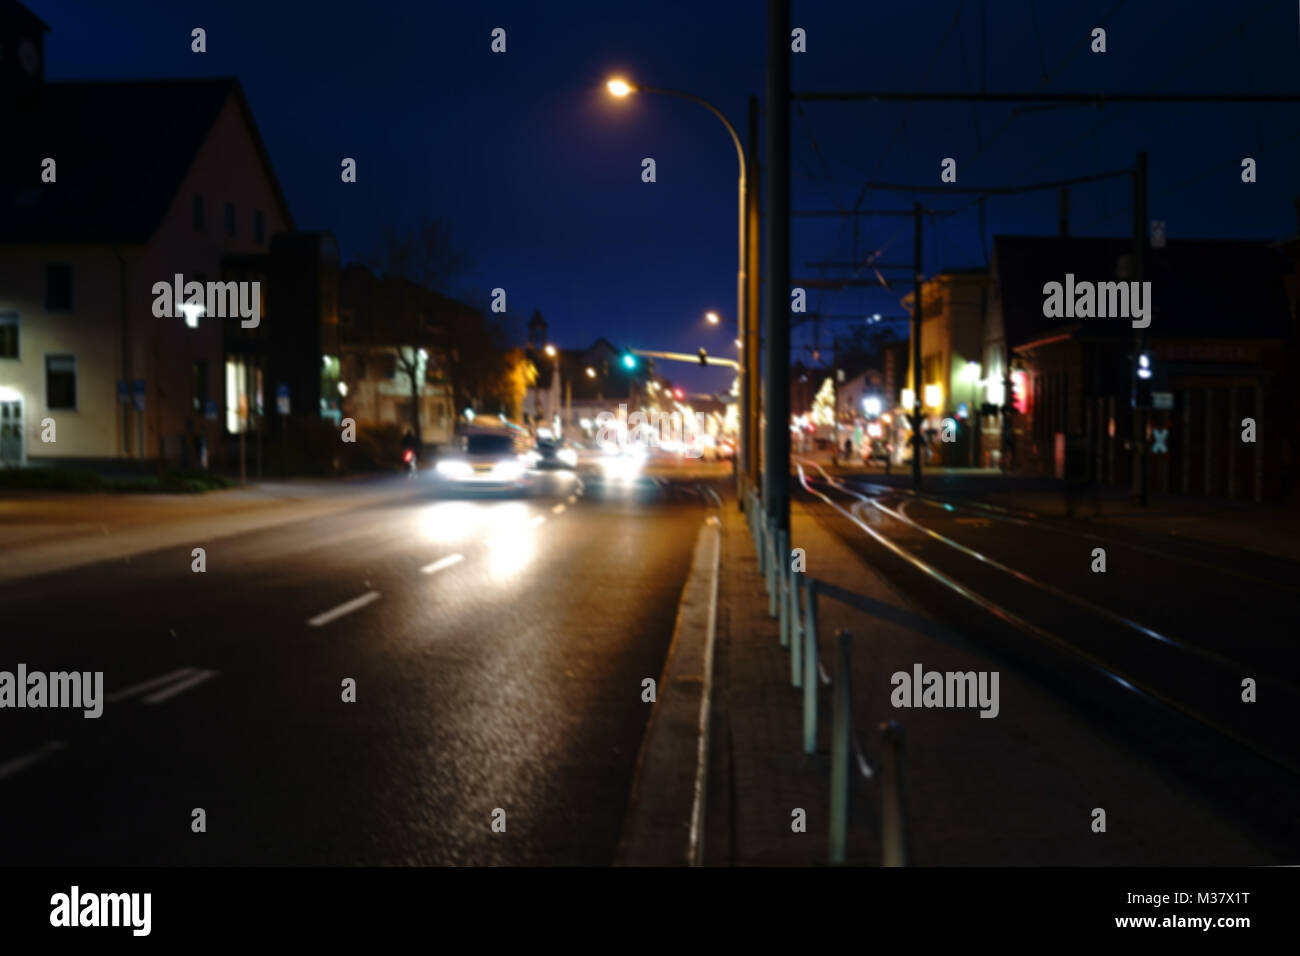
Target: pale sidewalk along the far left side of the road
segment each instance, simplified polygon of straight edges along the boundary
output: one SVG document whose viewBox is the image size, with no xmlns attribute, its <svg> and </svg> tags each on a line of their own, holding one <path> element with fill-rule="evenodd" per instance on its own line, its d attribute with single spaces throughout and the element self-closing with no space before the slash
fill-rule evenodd
<svg viewBox="0 0 1300 956">
<path fill-rule="evenodd" d="M 0 494 L 0 583 L 211 541 L 426 490 L 384 476 L 265 481 L 208 494 Z"/>
</svg>

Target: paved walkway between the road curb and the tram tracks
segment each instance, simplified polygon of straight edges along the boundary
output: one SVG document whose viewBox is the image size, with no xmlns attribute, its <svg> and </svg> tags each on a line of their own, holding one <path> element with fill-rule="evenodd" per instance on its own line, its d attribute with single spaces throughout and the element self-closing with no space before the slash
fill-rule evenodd
<svg viewBox="0 0 1300 956">
<path fill-rule="evenodd" d="M 823 865 L 828 858 L 829 695 L 819 695 L 816 753 L 802 753 L 801 691 L 757 572 L 749 529 L 734 501 L 723 507 L 712 747 L 705 862 Z M 836 533 L 796 503 L 792 548 L 807 572 L 928 618 Z M 1071 705 L 956 633 L 879 619 L 823 597 L 822 663 L 831 635 L 854 636 L 853 708 L 868 758 L 879 760 L 880 722 L 905 727 L 902 756 L 910 865 L 1249 865 L 1282 862 L 1264 842 L 1223 819 Z M 890 675 L 914 665 L 939 671 L 998 671 L 1000 713 L 894 709 Z M 848 861 L 880 861 L 876 780 L 853 771 Z M 1091 830 L 1104 808 L 1109 831 Z M 802 809 L 807 831 L 794 832 Z"/>
</svg>

